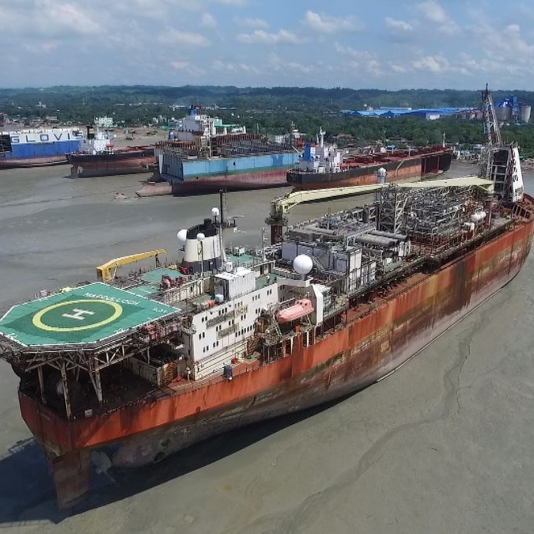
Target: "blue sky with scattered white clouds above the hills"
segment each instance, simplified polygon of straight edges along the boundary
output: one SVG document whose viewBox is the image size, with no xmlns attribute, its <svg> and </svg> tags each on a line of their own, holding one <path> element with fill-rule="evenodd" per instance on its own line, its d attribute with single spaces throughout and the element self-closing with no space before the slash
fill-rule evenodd
<svg viewBox="0 0 534 534">
<path fill-rule="evenodd" d="M 0 0 L 1 87 L 532 90 L 525 0 Z"/>
</svg>

